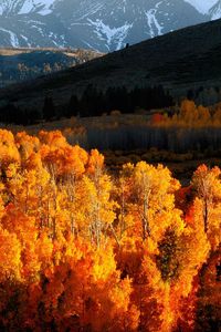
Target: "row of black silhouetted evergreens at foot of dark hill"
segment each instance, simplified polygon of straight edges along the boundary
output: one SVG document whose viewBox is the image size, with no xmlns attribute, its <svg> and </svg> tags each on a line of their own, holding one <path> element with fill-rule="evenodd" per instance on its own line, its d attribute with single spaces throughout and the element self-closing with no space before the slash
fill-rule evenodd
<svg viewBox="0 0 221 332">
<path fill-rule="evenodd" d="M 88 85 L 82 96 L 72 94 L 66 105 L 57 107 L 53 96 L 46 95 L 42 108 L 18 107 L 10 103 L 0 111 L 0 122 L 14 124 L 34 124 L 42 120 L 52 121 L 71 116 L 99 116 L 113 110 L 122 113 L 134 113 L 136 108 L 160 108 L 173 105 L 172 97 L 162 86 L 135 87 L 128 91 L 123 87 L 109 87 L 98 91 Z"/>
</svg>

